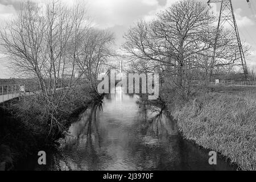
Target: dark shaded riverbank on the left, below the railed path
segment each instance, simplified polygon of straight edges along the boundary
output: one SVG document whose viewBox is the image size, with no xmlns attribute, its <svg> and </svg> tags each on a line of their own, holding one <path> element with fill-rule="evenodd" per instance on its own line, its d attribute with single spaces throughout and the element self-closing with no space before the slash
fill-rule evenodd
<svg viewBox="0 0 256 182">
<path fill-rule="evenodd" d="M 55 140 L 63 135 L 77 115 L 89 104 L 101 97 L 93 92 L 77 94 L 73 104 L 65 105 L 61 114 L 62 131 L 49 135 L 49 122 L 44 118 L 38 96 L 27 96 L 4 102 L 0 105 L 0 169 L 11 170 L 15 164 L 39 148 L 54 146 Z M 29 98 L 28 98 L 29 97 Z"/>
</svg>

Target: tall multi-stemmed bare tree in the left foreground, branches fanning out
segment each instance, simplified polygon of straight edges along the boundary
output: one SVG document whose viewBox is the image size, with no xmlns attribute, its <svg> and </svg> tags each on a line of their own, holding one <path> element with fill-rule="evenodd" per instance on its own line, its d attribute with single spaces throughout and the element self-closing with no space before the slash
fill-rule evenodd
<svg viewBox="0 0 256 182">
<path fill-rule="evenodd" d="M 50 117 L 51 131 L 61 128 L 60 106 L 76 89 L 75 62 L 82 32 L 88 29 L 85 7 L 68 7 L 52 0 L 46 7 L 27 1 L 16 17 L 0 32 L 1 46 L 16 71 L 38 78 L 44 112 Z M 68 76 L 65 76 L 68 75 Z M 65 85 L 69 82 L 69 85 Z M 51 131 L 49 133 L 51 133 Z"/>
</svg>

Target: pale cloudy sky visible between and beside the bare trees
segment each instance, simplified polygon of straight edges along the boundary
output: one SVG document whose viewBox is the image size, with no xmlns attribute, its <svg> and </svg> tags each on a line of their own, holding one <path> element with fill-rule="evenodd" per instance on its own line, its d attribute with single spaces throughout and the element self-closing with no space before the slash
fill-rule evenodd
<svg viewBox="0 0 256 182">
<path fill-rule="evenodd" d="M 34 0 L 40 2 L 40 0 Z M 64 0 L 63 0 L 64 1 Z M 72 0 L 65 0 L 72 4 Z M 177 0 L 87 0 L 88 15 L 98 28 L 108 28 L 115 33 L 117 46 L 123 42 L 122 35 L 139 19 L 151 20 L 160 10 L 166 9 Z M 205 0 L 207 2 L 208 0 Z M 256 1 L 250 0 L 256 10 Z M 44 1 L 41 1 L 44 2 Z M 256 65 L 256 17 L 246 0 L 233 0 L 241 40 L 250 44 L 249 65 Z M 218 9 L 218 7 L 217 7 Z M 0 0 L 0 24 L 19 10 L 19 0 Z M 255 12 L 256 13 L 256 12 Z M 1 25 L 0 25 L 1 26 Z M 10 74 L 0 54 L 0 78 L 15 77 Z"/>
</svg>

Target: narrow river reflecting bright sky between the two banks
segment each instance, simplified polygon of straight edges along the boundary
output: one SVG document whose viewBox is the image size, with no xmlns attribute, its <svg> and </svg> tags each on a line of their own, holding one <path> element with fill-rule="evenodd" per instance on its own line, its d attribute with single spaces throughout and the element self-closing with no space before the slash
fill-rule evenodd
<svg viewBox="0 0 256 182">
<path fill-rule="evenodd" d="M 28 159 L 34 170 L 235 170 L 222 158 L 210 166 L 208 152 L 184 140 L 175 121 L 159 107 L 139 102 L 139 96 L 116 88 L 93 104 L 47 151 L 47 165 Z"/>
</svg>

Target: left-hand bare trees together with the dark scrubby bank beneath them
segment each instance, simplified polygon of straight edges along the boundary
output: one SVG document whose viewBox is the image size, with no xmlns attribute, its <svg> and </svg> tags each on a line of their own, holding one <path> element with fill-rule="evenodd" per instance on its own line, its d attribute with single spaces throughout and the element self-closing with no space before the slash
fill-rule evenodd
<svg viewBox="0 0 256 182">
<path fill-rule="evenodd" d="M 91 26 L 85 10 L 79 1 L 71 7 L 55 0 L 46 6 L 26 1 L 1 28 L 2 53 L 16 76 L 26 78 L 18 81 L 34 94 L 1 107 L 0 146 L 26 154 L 39 143 L 51 144 L 67 129 L 70 117 L 102 99 L 97 76 L 102 68 L 109 69 L 114 38 Z"/>
</svg>

